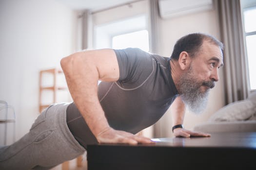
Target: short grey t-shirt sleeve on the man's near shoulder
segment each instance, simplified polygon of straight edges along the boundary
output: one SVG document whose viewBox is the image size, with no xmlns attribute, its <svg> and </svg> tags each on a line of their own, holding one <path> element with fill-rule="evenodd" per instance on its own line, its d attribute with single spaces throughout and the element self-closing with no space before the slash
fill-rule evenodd
<svg viewBox="0 0 256 170">
<path fill-rule="evenodd" d="M 139 84 L 153 71 L 151 54 L 137 48 L 114 50 L 119 66 L 119 82 Z"/>
</svg>

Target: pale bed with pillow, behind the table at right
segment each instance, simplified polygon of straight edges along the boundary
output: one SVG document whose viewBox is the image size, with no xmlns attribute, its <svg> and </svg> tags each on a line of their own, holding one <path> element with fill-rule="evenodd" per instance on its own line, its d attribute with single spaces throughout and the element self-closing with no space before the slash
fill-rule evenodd
<svg viewBox="0 0 256 170">
<path fill-rule="evenodd" d="M 230 103 L 208 121 L 197 124 L 195 131 L 214 132 L 256 132 L 256 92 L 246 100 Z"/>
</svg>

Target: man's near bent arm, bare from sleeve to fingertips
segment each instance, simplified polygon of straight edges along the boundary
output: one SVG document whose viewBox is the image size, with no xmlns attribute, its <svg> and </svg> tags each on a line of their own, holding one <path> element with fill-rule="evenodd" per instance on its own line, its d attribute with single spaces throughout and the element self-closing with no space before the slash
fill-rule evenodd
<svg viewBox="0 0 256 170">
<path fill-rule="evenodd" d="M 81 51 L 61 59 L 70 94 L 99 143 L 150 143 L 150 139 L 112 129 L 98 100 L 98 80 L 119 78 L 117 56 L 111 49 Z"/>
</svg>

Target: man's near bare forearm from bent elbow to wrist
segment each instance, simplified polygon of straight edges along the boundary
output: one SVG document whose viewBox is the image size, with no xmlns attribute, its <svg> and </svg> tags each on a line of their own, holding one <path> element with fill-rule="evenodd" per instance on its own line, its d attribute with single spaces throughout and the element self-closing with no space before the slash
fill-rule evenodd
<svg viewBox="0 0 256 170">
<path fill-rule="evenodd" d="M 61 60 L 70 94 L 92 133 L 97 136 L 109 127 L 98 101 L 99 72 L 86 52 Z"/>
</svg>

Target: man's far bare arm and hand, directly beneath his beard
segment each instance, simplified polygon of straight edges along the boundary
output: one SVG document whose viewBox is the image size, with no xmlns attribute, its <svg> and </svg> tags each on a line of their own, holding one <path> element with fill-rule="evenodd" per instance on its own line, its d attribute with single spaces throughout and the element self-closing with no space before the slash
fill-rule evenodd
<svg viewBox="0 0 256 170">
<path fill-rule="evenodd" d="M 178 124 L 183 124 L 183 119 L 185 116 L 185 104 L 182 102 L 180 97 L 177 97 L 176 100 L 171 105 L 171 113 L 173 117 L 173 126 Z M 202 132 L 189 131 L 183 128 L 174 129 L 174 136 L 190 137 L 190 136 L 211 136 L 210 134 Z"/>
</svg>

